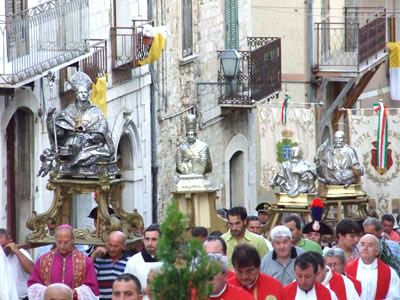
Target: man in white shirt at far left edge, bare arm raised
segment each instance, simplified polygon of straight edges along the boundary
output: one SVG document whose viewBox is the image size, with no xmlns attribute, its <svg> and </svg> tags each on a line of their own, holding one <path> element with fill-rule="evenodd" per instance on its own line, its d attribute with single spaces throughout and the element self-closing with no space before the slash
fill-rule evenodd
<svg viewBox="0 0 400 300">
<path fill-rule="evenodd" d="M 6 229 L 0 228 L 0 245 L 7 256 L 8 265 L 18 293 L 18 299 L 28 299 L 28 278 L 35 267 L 32 257 L 24 249 L 19 249 Z"/>
</svg>

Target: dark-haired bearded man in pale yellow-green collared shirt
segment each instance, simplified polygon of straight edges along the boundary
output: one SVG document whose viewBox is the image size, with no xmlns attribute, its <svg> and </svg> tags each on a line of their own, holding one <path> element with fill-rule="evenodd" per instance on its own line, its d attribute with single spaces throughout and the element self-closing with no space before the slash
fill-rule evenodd
<svg viewBox="0 0 400 300">
<path fill-rule="evenodd" d="M 260 258 L 262 259 L 269 249 L 264 239 L 251 233 L 246 229 L 247 225 L 247 211 L 242 206 L 233 207 L 228 211 L 228 226 L 229 231 L 221 236 L 226 242 L 227 256 L 229 259 L 229 269 L 233 269 L 232 266 L 232 253 L 238 244 L 250 244 L 256 248 Z"/>
</svg>

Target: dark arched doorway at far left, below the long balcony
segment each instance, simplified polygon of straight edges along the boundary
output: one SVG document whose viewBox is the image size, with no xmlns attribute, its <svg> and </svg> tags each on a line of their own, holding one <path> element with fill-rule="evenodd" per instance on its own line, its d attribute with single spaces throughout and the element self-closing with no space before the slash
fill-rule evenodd
<svg viewBox="0 0 400 300">
<path fill-rule="evenodd" d="M 7 229 L 17 243 L 29 233 L 25 224 L 32 212 L 33 120 L 31 111 L 19 108 L 6 127 Z"/>
</svg>

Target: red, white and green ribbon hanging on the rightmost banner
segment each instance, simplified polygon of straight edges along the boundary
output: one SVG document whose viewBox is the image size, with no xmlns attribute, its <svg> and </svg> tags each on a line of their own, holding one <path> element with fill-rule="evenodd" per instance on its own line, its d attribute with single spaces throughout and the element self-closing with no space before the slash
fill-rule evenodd
<svg viewBox="0 0 400 300">
<path fill-rule="evenodd" d="M 373 105 L 374 110 L 379 113 L 378 118 L 378 136 L 377 136 L 377 168 L 387 168 L 387 118 L 386 118 L 386 106 L 382 102 L 375 103 Z"/>
</svg>

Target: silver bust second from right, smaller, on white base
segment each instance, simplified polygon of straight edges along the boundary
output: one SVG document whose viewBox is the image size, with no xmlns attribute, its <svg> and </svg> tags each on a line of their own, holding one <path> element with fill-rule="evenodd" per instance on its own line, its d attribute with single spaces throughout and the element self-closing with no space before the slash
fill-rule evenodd
<svg viewBox="0 0 400 300">
<path fill-rule="evenodd" d="M 290 160 L 282 163 L 282 168 L 275 176 L 271 187 L 279 186 L 281 193 L 289 197 L 297 197 L 301 193 L 315 193 L 317 172 L 305 160 L 299 146 L 290 149 Z"/>
</svg>

